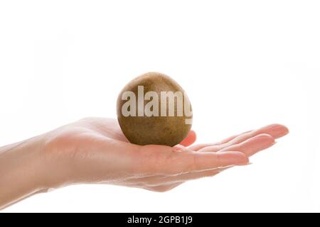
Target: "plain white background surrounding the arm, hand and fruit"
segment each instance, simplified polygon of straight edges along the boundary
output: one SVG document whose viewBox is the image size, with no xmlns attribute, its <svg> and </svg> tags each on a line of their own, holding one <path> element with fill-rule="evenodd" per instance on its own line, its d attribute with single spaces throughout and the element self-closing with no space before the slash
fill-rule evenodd
<svg viewBox="0 0 320 227">
<path fill-rule="evenodd" d="M 0 145 L 116 117 L 130 79 L 181 84 L 198 142 L 269 123 L 277 145 L 155 193 L 78 185 L 5 211 L 320 211 L 319 1 L 0 1 Z"/>
</svg>

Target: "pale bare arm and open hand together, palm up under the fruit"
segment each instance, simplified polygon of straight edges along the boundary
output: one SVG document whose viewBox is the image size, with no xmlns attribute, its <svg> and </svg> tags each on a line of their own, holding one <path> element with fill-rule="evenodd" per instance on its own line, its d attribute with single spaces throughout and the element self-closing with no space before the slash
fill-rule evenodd
<svg viewBox="0 0 320 227">
<path fill-rule="evenodd" d="M 279 124 L 192 145 L 196 133 L 173 148 L 134 145 L 116 119 L 84 118 L 0 148 L 0 209 L 70 184 L 117 184 L 166 192 L 183 182 L 247 165 L 249 157 L 287 135 Z"/>
</svg>

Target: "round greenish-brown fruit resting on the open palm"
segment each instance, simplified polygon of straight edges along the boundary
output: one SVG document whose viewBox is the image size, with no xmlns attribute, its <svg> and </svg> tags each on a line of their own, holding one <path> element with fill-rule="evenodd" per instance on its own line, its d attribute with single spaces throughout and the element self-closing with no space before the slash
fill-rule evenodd
<svg viewBox="0 0 320 227">
<path fill-rule="evenodd" d="M 151 93 L 148 95 L 148 92 Z M 161 95 L 169 95 L 170 92 L 176 97 L 182 94 L 182 113 L 181 100 L 167 96 L 161 99 L 164 98 Z M 119 125 L 131 143 L 173 146 L 186 138 L 191 129 L 192 109 L 187 104 L 190 104 L 188 96 L 174 79 L 159 72 L 148 72 L 132 79 L 120 92 L 117 99 Z M 170 113 L 174 116 L 169 116 Z"/>
</svg>

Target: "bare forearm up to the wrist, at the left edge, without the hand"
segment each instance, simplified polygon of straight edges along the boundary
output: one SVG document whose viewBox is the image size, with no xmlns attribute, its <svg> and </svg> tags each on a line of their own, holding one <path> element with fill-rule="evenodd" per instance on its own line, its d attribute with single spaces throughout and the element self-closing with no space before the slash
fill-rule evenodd
<svg viewBox="0 0 320 227">
<path fill-rule="evenodd" d="M 41 136 L 0 148 L 0 209 L 46 190 Z"/>
</svg>

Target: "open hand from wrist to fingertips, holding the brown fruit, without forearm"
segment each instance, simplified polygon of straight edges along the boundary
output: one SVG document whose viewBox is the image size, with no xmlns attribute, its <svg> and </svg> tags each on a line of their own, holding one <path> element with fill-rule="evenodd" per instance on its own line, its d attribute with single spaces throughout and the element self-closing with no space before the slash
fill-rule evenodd
<svg viewBox="0 0 320 227">
<path fill-rule="evenodd" d="M 73 183 L 119 184 L 165 192 L 191 179 L 209 177 L 274 145 L 286 135 L 281 125 L 271 125 L 235 135 L 219 143 L 191 145 L 196 133 L 174 148 L 129 143 L 117 120 L 85 118 L 46 135 L 46 160 L 59 167 L 56 185 Z M 53 161 L 54 160 L 54 161 Z"/>
</svg>

